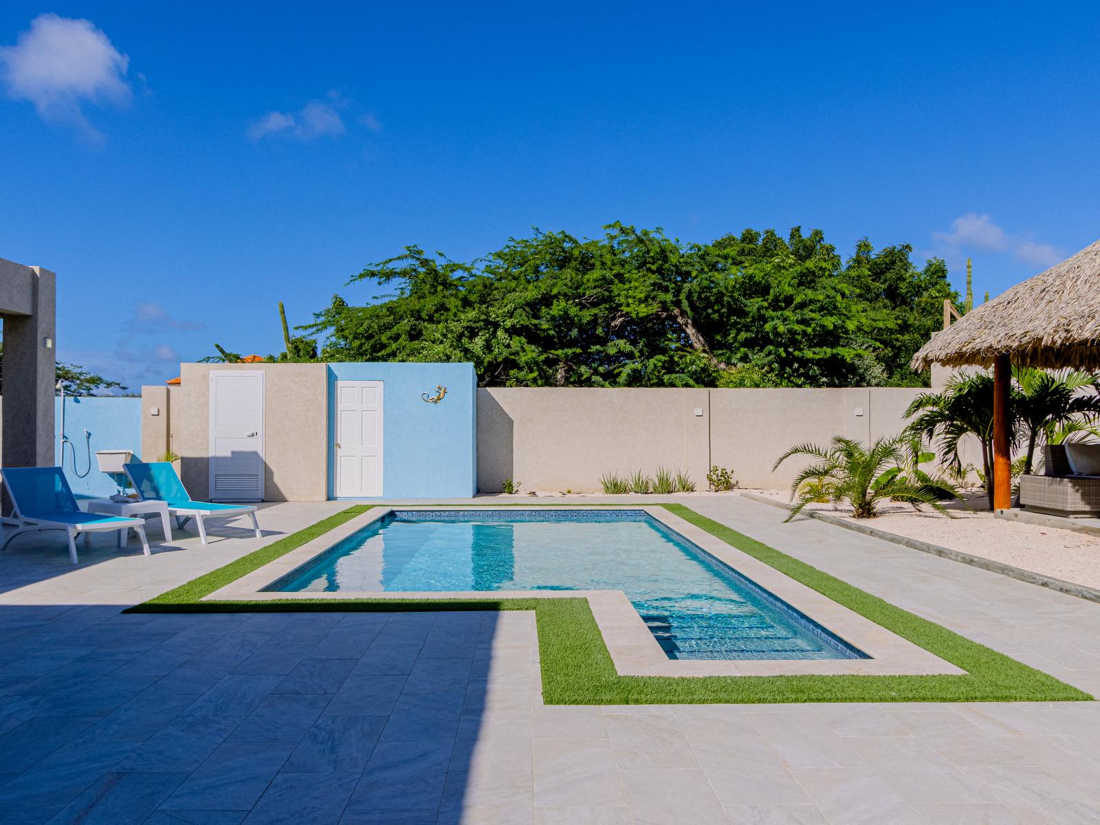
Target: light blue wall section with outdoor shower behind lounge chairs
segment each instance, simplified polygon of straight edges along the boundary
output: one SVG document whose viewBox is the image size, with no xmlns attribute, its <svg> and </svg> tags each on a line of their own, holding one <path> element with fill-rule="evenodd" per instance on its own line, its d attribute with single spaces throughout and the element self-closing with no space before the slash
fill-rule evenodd
<svg viewBox="0 0 1100 825">
<path fill-rule="evenodd" d="M 54 461 L 65 468 L 73 494 L 77 498 L 106 498 L 117 491 L 114 483 L 101 472 L 96 450 L 130 450 L 141 455 L 141 398 L 75 398 L 65 396 L 65 435 L 73 444 L 61 451 L 62 398 L 54 399 Z M 89 439 L 85 439 L 88 430 Z M 88 470 L 89 448 L 91 469 Z M 76 465 L 74 466 L 74 451 Z M 85 477 L 77 472 L 88 471 Z"/>
</svg>

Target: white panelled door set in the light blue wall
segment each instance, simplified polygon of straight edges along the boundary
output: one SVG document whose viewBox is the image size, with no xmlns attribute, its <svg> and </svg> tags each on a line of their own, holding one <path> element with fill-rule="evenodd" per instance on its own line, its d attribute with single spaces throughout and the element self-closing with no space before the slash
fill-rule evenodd
<svg viewBox="0 0 1100 825">
<path fill-rule="evenodd" d="M 382 382 L 337 382 L 332 464 L 338 497 L 382 495 Z"/>
</svg>

